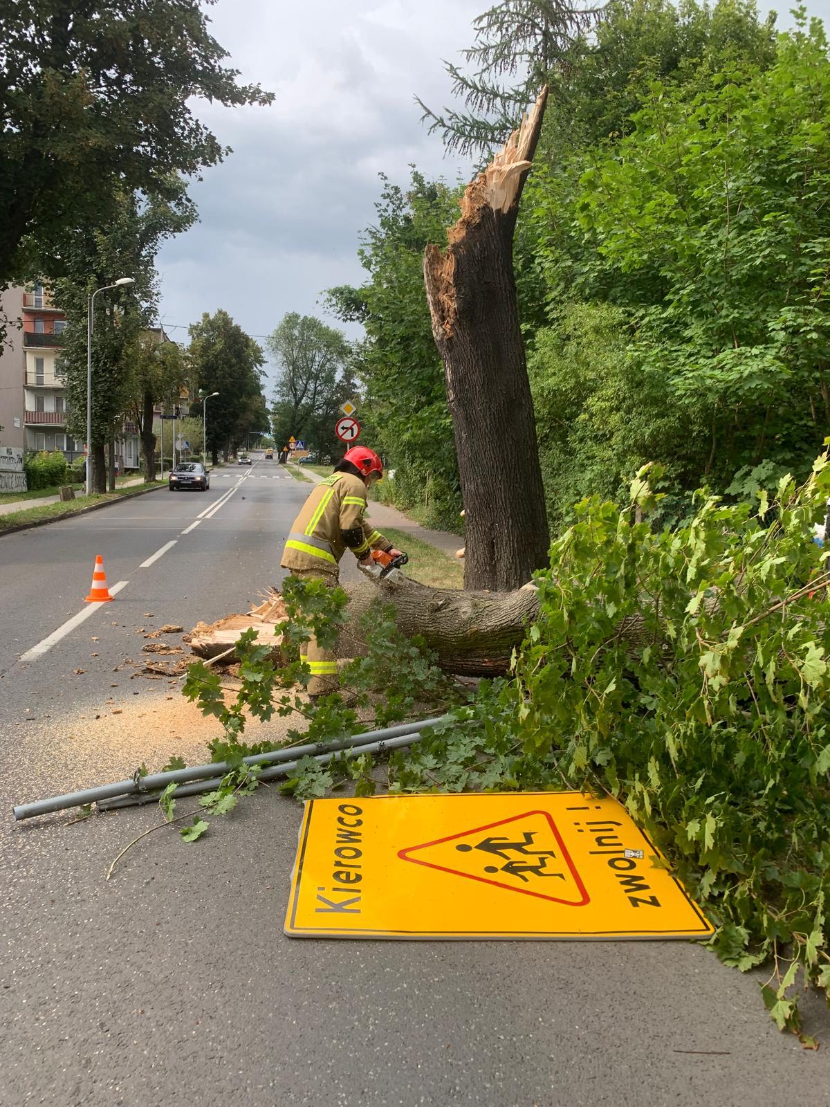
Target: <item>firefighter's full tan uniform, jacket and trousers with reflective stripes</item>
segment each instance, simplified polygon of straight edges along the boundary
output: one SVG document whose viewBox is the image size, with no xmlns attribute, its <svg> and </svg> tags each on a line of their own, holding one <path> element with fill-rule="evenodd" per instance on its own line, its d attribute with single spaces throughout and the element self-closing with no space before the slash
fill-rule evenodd
<svg viewBox="0 0 830 1107">
<path fill-rule="evenodd" d="M 338 583 L 340 559 L 346 549 L 362 558 L 371 549 L 388 550 L 392 544 L 380 530 L 363 521 L 366 486 L 353 473 L 332 473 L 315 486 L 294 519 L 282 551 L 283 569 L 295 577 L 315 577 L 330 588 Z M 356 541 L 346 546 L 345 538 Z M 338 689 L 338 663 L 332 650 L 323 650 L 312 637 L 302 660 L 311 670 L 308 691 L 322 695 Z"/>
</svg>

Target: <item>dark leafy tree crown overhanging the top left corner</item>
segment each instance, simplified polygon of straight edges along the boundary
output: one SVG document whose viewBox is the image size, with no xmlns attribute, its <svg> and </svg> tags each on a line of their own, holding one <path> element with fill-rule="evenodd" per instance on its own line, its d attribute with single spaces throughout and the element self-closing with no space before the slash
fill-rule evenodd
<svg viewBox="0 0 830 1107">
<path fill-rule="evenodd" d="M 51 276 L 124 190 L 170 198 L 172 176 L 220 162 L 195 100 L 270 103 L 237 82 L 208 24 L 199 0 L 0 7 L 0 282 L 29 275 L 32 250 Z"/>
</svg>

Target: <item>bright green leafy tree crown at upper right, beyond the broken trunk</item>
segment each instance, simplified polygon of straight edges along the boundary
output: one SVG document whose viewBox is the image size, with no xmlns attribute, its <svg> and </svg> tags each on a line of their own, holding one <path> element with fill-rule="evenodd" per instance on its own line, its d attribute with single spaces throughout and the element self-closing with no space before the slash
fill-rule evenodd
<svg viewBox="0 0 830 1107">
<path fill-rule="evenodd" d="M 764 458 L 803 473 L 830 432 L 829 110 L 823 30 L 802 23 L 767 70 L 654 82 L 582 177 L 588 283 L 625 290 L 636 356 L 704 424 L 696 475 L 718 487 Z"/>
</svg>

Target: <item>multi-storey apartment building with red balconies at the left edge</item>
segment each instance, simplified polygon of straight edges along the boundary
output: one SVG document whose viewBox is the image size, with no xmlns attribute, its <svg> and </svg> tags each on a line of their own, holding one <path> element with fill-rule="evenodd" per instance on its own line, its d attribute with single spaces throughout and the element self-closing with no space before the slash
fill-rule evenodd
<svg viewBox="0 0 830 1107">
<path fill-rule="evenodd" d="M 0 352 L 0 445 L 60 449 L 72 463 L 83 457 L 84 444 L 66 433 L 66 392 L 61 379 L 66 315 L 42 284 L 8 289 L 2 309 L 10 325 L 7 346 Z M 122 424 L 115 457 L 122 472 L 138 467 L 134 423 Z"/>
</svg>

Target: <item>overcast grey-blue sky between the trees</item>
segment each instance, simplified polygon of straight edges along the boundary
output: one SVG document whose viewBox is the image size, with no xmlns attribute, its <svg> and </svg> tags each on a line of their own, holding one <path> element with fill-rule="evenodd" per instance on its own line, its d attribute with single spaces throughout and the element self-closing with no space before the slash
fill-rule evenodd
<svg viewBox="0 0 830 1107">
<path fill-rule="evenodd" d="M 276 100 L 270 107 L 196 105 L 234 153 L 193 185 L 200 223 L 158 257 L 170 338 L 187 341 L 186 327 L 218 308 L 256 335 L 287 311 L 323 315 L 324 289 L 362 280 L 359 235 L 374 219 L 378 173 L 405 184 L 414 163 L 449 180 L 468 176 L 469 166 L 445 158 L 440 136 L 419 122 L 414 94 L 435 107 L 449 101 L 442 59 L 459 60 L 486 7 L 218 0 L 210 8 L 214 34 L 242 80 Z M 828 9 L 830 0 L 809 4 L 826 22 Z M 779 27 L 789 22 L 779 17 Z"/>
</svg>

